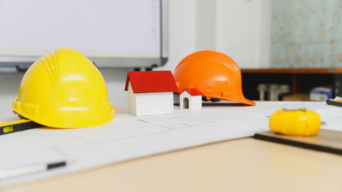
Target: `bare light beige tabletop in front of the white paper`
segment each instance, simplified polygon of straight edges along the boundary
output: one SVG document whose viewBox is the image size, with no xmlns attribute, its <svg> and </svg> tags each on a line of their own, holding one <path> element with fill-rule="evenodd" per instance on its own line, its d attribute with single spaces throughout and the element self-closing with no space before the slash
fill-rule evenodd
<svg viewBox="0 0 342 192">
<path fill-rule="evenodd" d="M 340 155 L 248 137 L 2 191 L 342 191 L 341 176 Z"/>
</svg>

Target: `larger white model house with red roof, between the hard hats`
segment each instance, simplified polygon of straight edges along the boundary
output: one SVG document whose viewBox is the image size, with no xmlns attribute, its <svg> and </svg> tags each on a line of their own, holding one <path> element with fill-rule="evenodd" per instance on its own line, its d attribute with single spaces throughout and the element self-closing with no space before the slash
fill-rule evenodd
<svg viewBox="0 0 342 192">
<path fill-rule="evenodd" d="M 128 72 L 124 90 L 129 92 L 129 113 L 133 115 L 173 113 L 177 86 L 169 70 Z"/>
</svg>

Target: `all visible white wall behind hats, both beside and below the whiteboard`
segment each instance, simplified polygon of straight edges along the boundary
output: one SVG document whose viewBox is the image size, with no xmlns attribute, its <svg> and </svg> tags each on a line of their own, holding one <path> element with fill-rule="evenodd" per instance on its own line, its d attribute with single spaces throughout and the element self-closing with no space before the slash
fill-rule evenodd
<svg viewBox="0 0 342 192">
<path fill-rule="evenodd" d="M 155 70 L 174 70 L 183 57 L 211 49 L 231 56 L 240 68 L 269 66 L 271 0 L 170 0 L 169 59 Z M 103 69 L 109 100 L 127 105 L 124 83 L 130 69 Z M 0 74 L 0 113 L 11 114 L 23 73 Z"/>
</svg>

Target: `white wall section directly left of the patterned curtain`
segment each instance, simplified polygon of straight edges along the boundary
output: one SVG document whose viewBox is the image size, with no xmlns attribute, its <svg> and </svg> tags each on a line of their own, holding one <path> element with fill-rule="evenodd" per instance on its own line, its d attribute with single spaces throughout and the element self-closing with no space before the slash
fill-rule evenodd
<svg viewBox="0 0 342 192">
<path fill-rule="evenodd" d="M 269 66 L 271 0 L 216 0 L 215 49 L 239 68 Z"/>
</svg>

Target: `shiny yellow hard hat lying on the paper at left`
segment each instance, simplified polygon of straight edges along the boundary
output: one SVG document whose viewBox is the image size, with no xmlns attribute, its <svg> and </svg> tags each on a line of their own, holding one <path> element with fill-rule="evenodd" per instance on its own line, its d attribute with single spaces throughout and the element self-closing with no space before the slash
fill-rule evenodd
<svg viewBox="0 0 342 192">
<path fill-rule="evenodd" d="M 73 49 L 56 49 L 36 61 L 21 80 L 12 108 L 55 128 L 99 126 L 115 115 L 101 72 Z"/>
</svg>

